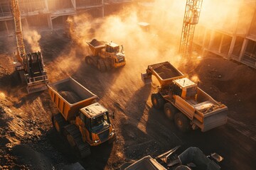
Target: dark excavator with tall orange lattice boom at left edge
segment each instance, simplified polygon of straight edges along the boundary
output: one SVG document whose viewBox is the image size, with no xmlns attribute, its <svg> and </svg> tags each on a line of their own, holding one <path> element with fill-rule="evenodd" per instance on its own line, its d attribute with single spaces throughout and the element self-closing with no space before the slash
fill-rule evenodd
<svg viewBox="0 0 256 170">
<path fill-rule="evenodd" d="M 14 53 L 15 70 L 20 75 L 21 81 L 26 82 L 28 94 L 46 90 L 48 77 L 44 69 L 42 53 L 39 51 L 26 53 L 25 50 L 18 0 L 11 0 L 11 10 L 14 16 L 17 46 L 17 52 Z"/>
</svg>

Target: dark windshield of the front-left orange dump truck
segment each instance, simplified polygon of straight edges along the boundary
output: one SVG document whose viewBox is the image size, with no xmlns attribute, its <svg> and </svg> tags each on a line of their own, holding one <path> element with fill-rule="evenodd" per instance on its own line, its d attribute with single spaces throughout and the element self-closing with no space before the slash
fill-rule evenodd
<svg viewBox="0 0 256 170">
<path fill-rule="evenodd" d="M 99 132 L 102 128 L 110 126 L 110 119 L 107 113 L 91 119 L 92 132 Z"/>
</svg>

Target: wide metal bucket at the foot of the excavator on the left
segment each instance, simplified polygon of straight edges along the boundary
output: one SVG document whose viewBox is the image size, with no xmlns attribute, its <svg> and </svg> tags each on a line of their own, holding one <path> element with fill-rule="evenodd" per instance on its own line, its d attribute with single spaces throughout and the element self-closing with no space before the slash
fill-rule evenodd
<svg viewBox="0 0 256 170">
<path fill-rule="evenodd" d="M 38 91 L 44 91 L 47 89 L 48 77 L 43 75 L 40 77 L 33 77 L 27 79 L 28 86 L 26 87 L 28 94 L 33 94 Z"/>
</svg>

